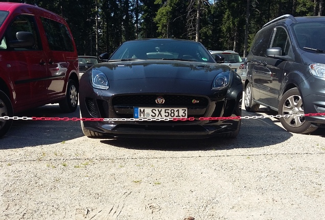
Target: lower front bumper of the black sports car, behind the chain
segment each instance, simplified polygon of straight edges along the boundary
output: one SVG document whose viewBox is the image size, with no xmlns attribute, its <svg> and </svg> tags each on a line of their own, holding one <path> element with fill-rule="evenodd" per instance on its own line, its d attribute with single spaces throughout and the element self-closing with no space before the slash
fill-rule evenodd
<svg viewBox="0 0 325 220">
<path fill-rule="evenodd" d="M 196 139 L 233 132 L 238 128 L 239 119 L 202 120 L 206 117 L 241 116 L 241 86 L 238 87 L 237 91 L 228 94 L 227 98 L 222 97 L 210 101 L 203 114 L 196 117 L 194 121 L 132 121 L 130 116 L 121 117 L 118 115 L 112 105 L 112 97 L 103 99 L 103 96 L 98 95 L 99 91 L 95 91 L 91 98 L 81 96 L 79 101 L 82 118 L 111 119 L 110 121 L 83 121 L 84 127 L 91 131 L 119 137 Z M 89 100 L 91 101 L 89 102 Z M 201 114 L 202 110 L 195 111 L 194 114 L 196 113 Z M 124 120 L 121 121 L 121 118 Z"/>
</svg>

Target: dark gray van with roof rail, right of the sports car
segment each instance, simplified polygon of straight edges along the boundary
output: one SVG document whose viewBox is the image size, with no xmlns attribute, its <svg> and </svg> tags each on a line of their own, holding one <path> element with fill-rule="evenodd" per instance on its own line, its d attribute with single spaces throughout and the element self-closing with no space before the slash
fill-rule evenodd
<svg viewBox="0 0 325 220">
<path fill-rule="evenodd" d="M 283 15 L 256 34 L 247 56 L 245 108 L 284 116 L 294 133 L 325 125 L 325 17 Z"/>
</svg>

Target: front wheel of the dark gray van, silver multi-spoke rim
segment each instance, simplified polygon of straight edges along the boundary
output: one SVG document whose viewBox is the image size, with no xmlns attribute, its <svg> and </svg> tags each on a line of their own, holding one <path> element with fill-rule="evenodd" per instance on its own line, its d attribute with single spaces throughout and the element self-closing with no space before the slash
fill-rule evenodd
<svg viewBox="0 0 325 220">
<path fill-rule="evenodd" d="M 289 117 L 280 118 L 282 126 L 289 132 L 306 134 L 318 128 L 306 121 L 305 116 L 292 116 L 294 114 L 304 114 L 303 99 L 297 88 L 288 90 L 282 96 L 278 106 L 278 114 L 289 115 Z"/>
</svg>

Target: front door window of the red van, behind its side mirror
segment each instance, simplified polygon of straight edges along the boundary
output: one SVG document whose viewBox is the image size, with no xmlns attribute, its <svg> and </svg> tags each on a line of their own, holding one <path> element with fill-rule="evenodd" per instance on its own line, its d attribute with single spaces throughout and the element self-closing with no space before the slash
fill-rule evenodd
<svg viewBox="0 0 325 220">
<path fill-rule="evenodd" d="M 6 49 L 9 47 L 10 41 L 17 41 L 17 32 L 32 33 L 34 36 L 34 46 L 28 48 L 14 48 L 14 50 L 39 50 L 42 48 L 35 19 L 34 16 L 31 15 L 18 15 L 14 18 L 6 30 L 6 34 L 1 41 L 0 48 Z"/>
</svg>

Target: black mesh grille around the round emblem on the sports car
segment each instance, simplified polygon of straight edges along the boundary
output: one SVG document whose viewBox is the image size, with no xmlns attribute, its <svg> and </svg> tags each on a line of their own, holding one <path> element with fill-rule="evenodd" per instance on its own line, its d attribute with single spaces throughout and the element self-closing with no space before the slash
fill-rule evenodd
<svg viewBox="0 0 325 220">
<path fill-rule="evenodd" d="M 157 97 L 163 97 L 164 104 L 157 104 Z M 133 107 L 186 107 L 188 118 L 197 118 L 204 116 L 208 104 L 206 97 L 191 95 L 121 95 L 112 98 L 114 113 L 120 118 L 133 118 Z"/>
</svg>

